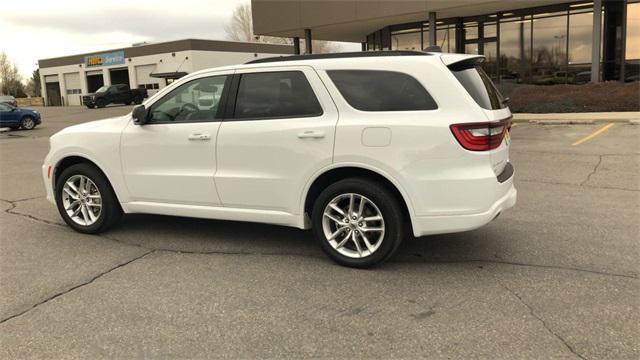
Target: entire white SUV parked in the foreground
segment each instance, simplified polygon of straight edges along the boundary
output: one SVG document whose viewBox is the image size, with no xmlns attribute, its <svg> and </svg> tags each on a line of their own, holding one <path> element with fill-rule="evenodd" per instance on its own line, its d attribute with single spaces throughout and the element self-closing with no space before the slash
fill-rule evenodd
<svg viewBox="0 0 640 360">
<path fill-rule="evenodd" d="M 372 266 L 409 232 L 475 229 L 515 204 L 511 113 L 482 61 L 387 51 L 199 71 L 53 135 L 47 198 L 84 233 L 122 213 L 262 222 Z"/>
</svg>

